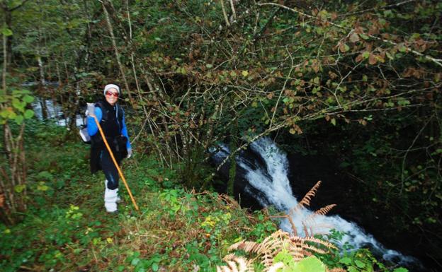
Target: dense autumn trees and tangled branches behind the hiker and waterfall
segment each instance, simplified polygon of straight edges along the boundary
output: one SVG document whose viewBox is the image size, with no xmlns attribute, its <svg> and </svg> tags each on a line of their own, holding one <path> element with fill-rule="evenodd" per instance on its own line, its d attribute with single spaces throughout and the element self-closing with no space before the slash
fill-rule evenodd
<svg viewBox="0 0 442 272">
<path fill-rule="evenodd" d="M 30 103 L 40 102 L 44 117 L 45 100 L 62 107 L 72 131 L 62 145 L 76 137 L 85 103 L 117 83 L 135 153 L 154 155 L 185 187 L 215 184 L 221 166 L 210 164 L 210 150 L 217 143 L 236 150 L 229 162 L 271 136 L 289 154 L 334 161 L 360 213 L 382 218 L 379 232 L 397 243 L 406 235 L 410 252 L 419 249 L 419 258 L 441 268 L 440 1 L 0 6 L 5 223 L 17 223 L 28 206 Z"/>
</svg>

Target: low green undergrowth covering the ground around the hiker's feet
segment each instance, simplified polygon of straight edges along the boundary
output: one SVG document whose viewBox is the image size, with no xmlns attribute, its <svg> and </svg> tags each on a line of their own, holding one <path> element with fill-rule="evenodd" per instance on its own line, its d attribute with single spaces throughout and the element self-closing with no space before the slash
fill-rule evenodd
<svg viewBox="0 0 442 272">
<path fill-rule="evenodd" d="M 137 153 L 123 171 L 140 211 L 120 182 L 123 203 L 109 215 L 103 174 L 89 172 L 89 146 L 57 126 L 27 126 L 26 161 L 28 211 L 21 223 L 0 224 L 0 271 L 215 271 L 231 244 L 259 243 L 277 230 L 267 210 L 251 213 L 227 196 L 183 189 L 175 172 Z M 321 259 L 356 269 L 358 256 Z"/>
</svg>

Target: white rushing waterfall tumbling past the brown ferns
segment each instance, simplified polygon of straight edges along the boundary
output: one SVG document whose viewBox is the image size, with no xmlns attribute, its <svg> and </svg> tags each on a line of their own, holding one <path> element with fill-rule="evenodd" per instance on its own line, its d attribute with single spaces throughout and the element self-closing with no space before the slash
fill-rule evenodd
<svg viewBox="0 0 442 272">
<path fill-rule="evenodd" d="M 261 156 L 263 165 L 253 158 L 247 158 L 244 153 L 237 155 L 237 165 L 244 170 L 244 178 L 249 182 L 244 191 L 254 197 L 256 201 L 259 201 L 263 207 L 273 205 L 278 211 L 288 213 L 290 208 L 297 205 L 298 201 L 292 194 L 288 180 L 287 156 L 268 137 L 254 141 L 254 143 L 251 143 L 250 149 L 256 155 Z M 216 150 L 213 148 L 212 152 L 214 153 L 212 158 L 219 164 L 229 155 L 229 148 L 221 144 Z M 340 241 L 341 245 L 348 243 L 356 249 L 370 246 L 375 252 L 381 254 L 383 259 L 395 261 L 401 265 L 419 263 L 411 256 L 404 256 L 395 250 L 386 249 L 372 235 L 365 233 L 361 227 L 358 227 L 356 223 L 348 222 L 339 215 L 314 215 L 314 219 L 310 219 L 313 213 L 313 211 L 303 207 L 297 208 L 296 212 L 293 213 L 292 219 L 296 225 L 297 235 L 302 235 L 305 227 L 307 230 L 312 230 L 314 234 L 328 234 L 331 229 L 335 229 L 347 234 Z M 292 227 L 286 219 L 281 220 L 280 228 L 292 232 Z"/>
</svg>

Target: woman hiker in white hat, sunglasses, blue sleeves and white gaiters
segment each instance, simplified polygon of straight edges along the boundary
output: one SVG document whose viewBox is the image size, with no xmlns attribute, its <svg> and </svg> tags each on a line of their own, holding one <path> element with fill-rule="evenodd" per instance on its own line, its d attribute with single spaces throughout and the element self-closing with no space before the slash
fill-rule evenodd
<svg viewBox="0 0 442 272">
<path fill-rule="evenodd" d="M 94 104 L 88 104 L 87 131 L 91 136 L 91 172 L 103 170 L 106 180 L 104 190 L 104 206 L 108 213 L 117 213 L 118 197 L 118 170 L 111 155 L 101 138 L 94 116 L 98 119 L 103 134 L 106 136 L 115 160 L 120 165 L 123 158 L 130 158 L 128 129 L 125 124 L 124 111 L 118 105 L 120 88 L 115 84 L 108 84 L 103 91 L 105 99 Z"/>
</svg>

